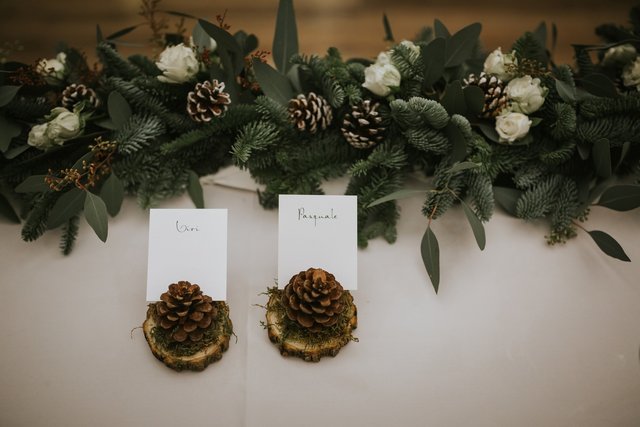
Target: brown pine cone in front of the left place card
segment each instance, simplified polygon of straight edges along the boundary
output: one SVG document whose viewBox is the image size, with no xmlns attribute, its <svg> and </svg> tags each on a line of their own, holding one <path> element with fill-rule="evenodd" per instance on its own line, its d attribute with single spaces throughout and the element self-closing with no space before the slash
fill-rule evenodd
<svg viewBox="0 0 640 427">
<path fill-rule="evenodd" d="M 187 338 L 200 341 L 218 314 L 211 297 L 204 295 L 200 286 L 186 281 L 169 285 L 160 300 L 156 304 L 158 323 L 170 330 L 171 337 L 178 342 Z"/>
</svg>

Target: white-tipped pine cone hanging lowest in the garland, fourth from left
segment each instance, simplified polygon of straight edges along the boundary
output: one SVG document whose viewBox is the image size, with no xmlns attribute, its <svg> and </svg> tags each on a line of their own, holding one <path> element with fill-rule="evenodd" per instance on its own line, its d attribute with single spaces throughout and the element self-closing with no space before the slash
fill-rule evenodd
<svg viewBox="0 0 640 427">
<path fill-rule="evenodd" d="M 373 147 L 384 139 L 385 128 L 381 126 L 382 117 L 378 113 L 380 103 L 371 103 L 367 99 L 360 105 L 354 105 L 351 113 L 344 116 L 342 135 L 355 148 Z"/>
</svg>

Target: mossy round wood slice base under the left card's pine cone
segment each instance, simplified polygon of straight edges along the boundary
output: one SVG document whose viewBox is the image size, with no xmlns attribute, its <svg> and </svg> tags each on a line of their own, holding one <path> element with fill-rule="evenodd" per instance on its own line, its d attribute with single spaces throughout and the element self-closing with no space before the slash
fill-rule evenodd
<svg viewBox="0 0 640 427">
<path fill-rule="evenodd" d="M 229 319 L 229 306 L 224 301 L 214 301 L 214 305 L 218 309 L 218 315 L 205 331 L 202 341 L 178 343 L 169 339 L 169 334 L 158 325 L 155 303 L 149 304 L 142 329 L 153 355 L 176 371 L 202 371 L 209 364 L 220 360 L 222 353 L 229 348 L 233 325 Z"/>
</svg>

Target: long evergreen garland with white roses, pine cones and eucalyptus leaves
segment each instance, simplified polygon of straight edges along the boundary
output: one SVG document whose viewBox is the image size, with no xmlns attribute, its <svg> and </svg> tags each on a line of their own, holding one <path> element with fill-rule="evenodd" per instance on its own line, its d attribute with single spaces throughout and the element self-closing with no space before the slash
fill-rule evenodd
<svg viewBox="0 0 640 427">
<path fill-rule="evenodd" d="M 318 194 L 348 174 L 358 196 L 359 244 L 396 239 L 402 197 L 424 197 L 421 253 L 438 290 L 432 221 L 461 205 L 480 249 L 497 203 L 546 220 L 551 244 L 584 230 L 606 254 L 629 261 L 609 234 L 587 231 L 593 205 L 640 206 L 640 8 L 630 27 L 602 25 L 603 44 L 576 45 L 574 66 L 554 63 L 556 29 L 541 24 L 509 51 L 483 52 L 480 24 L 451 34 L 435 20 L 375 61 L 298 52 L 291 0 L 280 2 L 272 59 L 254 35 L 216 23 L 141 14 L 163 49 L 122 57 L 122 37 L 97 29 L 98 67 L 63 47 L 33 65 L 0 69 L 0 212 L 31 241 L 62 229 L 68 254 L 84 216 L 103 241 L 124 194 L 143 208 L 236 164 L 277 195 Z M 169 31 L 168 19 L 179 25 Z M 185 22 L 194 22 L 187 33 Z M 412 175 L 428 185 L 407 189 Z"/>
</svg>

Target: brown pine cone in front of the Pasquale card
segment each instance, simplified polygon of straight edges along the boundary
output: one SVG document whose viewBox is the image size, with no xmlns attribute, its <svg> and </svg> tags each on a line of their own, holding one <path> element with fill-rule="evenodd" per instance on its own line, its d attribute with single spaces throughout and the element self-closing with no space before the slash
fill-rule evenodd
<svg viewBox="0 0 640 427">
<path fill-rule="evenodd" d="M 331 273 L 310 268 L 294 275 L 282 292 L 281 304 L 289 319 L 318 331 L 332 326 L 344 310 L 342 285 Z"/>
</svg>

